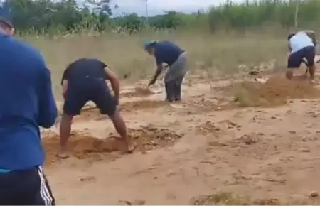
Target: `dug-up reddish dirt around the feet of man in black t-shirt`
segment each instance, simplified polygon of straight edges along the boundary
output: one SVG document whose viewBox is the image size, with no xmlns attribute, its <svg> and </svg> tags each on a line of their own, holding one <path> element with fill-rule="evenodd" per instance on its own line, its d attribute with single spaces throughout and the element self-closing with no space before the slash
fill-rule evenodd
<svg viewBox="0 0 320 206">
<path fill-rule="evenodd" d="M 128 129 L 132 136 L 137 151 L 152 150 L 165 146 L 172 146 L 181 134 L 176 134 L 169 129 L 159 129 L 152 126 L 142 126 L 139 129 Z M 59 151 L 59 136 L 54 131 L 43 132 L 43 147 L 46 150 L 46 165 L 60 161 L 56 157 Z M 97 139 L 90 136 L 88 131 L 73 131 L 68 141 L 68 149 L 71 156 L 78 159 L 86 159 L 89 162 L 100 160 L 113 160 L 119 156 L 112 155 L 114 151 L 124 151 L 124 143 L 118 136 L 110 134 L 107 139 Z"/>
</svg>

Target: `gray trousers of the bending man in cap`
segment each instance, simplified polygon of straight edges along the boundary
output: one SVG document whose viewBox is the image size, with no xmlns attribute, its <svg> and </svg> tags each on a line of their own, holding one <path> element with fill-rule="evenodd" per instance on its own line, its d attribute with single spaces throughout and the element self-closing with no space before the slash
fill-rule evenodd
<svg viewBox="0 0 320 206">
<path fill-rule="evenodd" d="M 186 75 L 186 52 L 179 55 L 164 76 L 164 85 L 166 87 L 166 100 L 181 100 L 181 84 Z"/>
</svg>

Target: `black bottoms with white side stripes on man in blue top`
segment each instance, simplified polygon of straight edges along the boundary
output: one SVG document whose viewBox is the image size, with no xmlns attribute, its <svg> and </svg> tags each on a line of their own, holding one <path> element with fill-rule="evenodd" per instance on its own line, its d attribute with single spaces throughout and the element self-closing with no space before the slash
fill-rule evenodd
<svg viewBox="0 0 320 206">
<path fill-rule="evenodd" d="M 55 205 L 42 168 L 0 173 L 0 205 Z"/>
</svg>

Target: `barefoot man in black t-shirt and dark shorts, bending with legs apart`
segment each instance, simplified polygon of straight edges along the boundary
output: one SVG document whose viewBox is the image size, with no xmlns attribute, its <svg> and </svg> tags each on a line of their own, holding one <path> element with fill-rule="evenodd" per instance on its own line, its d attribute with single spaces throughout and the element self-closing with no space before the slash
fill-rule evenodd
<svg viewBox="0 0 320 206">
<path fill-rule="evenodd" d="M 114 91 L 110 93 L 106 80 L 109 80 Z M 73 116 L 79 115 L 82 107 L 89 101 L 96 104 L 101 114 L 107 114 L 115 129 L 126 142 L 128 153 L 132 153 L 133 145 L 127 128 L 118 110 L 119 80 L 105 63 L 97 59 L 81 58 L 71 63 L 61 81 L 63 86 L 63 117 L 60 122 L 60 158 L 68 158 L 67 143 L 71 131 Z"/>
</svg>

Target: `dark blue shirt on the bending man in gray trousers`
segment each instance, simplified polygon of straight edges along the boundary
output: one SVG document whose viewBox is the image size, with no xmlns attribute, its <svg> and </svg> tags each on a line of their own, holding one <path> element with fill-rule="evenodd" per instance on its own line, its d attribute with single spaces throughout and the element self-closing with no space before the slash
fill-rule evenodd
<svg viewBox="0 0 320 206">
<path fill-rule="evenodd" d="M 169 41 L 159 41 L 154 45 L 154 57 L 156 58 L 156 65 L 166 63 L 171 66 L 183 53 L 178 45 Z"/>
</svg>

